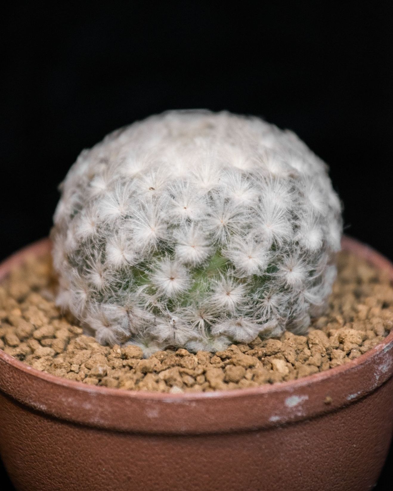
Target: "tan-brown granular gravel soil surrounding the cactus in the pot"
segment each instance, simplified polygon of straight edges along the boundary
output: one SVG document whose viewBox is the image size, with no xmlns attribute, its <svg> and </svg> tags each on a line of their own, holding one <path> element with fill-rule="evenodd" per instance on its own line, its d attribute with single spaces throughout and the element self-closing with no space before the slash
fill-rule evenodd
<svg viewBox="0 0 393 491">
<path fill-rule="evenodd" d="M 137 346 L 101 346 L 61 315 L 55 288 L 49 255 L 11 272 L 0 286 L 0 349 L 58 377 L 122 389 L 202 392 L 294 380 L 361 356 L 393 327 L 389 278 L 346 252 L 329 311 L 308 335 L 286 332 L 215 354 L 167 349 L 143 359 Z"/>
</svg>

